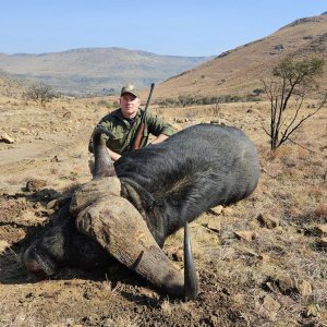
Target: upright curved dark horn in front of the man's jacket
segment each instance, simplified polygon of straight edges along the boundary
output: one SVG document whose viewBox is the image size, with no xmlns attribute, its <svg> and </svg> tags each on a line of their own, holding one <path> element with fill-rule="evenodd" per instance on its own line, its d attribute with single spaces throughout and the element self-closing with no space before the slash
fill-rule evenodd
<svg viewBox="0 0 327 327">
<path fill-rule="evenodd" d="M 92 135 L 93 138 L 93 152 L 94 152 L 94 179 L 100 179 L 102 177 L 116 175 L 116 170 L 113 168 L 113 162 L 110 159 L 104 135 L 106 134 L 109 137 L 113 135 L 101 126 L 97 126 Z"/>
</svg>

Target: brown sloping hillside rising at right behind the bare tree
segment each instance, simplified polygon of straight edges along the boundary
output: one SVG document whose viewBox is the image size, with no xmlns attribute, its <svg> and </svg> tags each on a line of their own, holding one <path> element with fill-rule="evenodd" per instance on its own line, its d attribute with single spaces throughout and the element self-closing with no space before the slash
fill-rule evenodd
<svg viewBox="0 0 327 327">
<path fill-rule="evenodd" d="M 168 78 L 156 88 L 155 99 L 192 96 L 244 96 L 261 87 L 261 78 L 287 55 L 296 58 L 326 59 L 324 81 L 327 84 L 327 15 L 304 17 L 276 33 L 226 51 L 180 75 Z"/>
</svg>

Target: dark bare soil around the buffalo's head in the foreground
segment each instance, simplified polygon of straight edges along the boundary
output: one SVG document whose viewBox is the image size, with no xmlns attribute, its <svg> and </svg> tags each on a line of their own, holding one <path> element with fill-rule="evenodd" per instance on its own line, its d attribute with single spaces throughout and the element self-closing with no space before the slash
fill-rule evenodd
<svg viewBox="0 0 327 327">
<path fill-rule="evenodd" d="M 0 256 L 0 326 L 242 326 L 215 257 L 199 269 L 202 293 L 189 303 L 169 301 L 118 263 L 94 271 L 65 268 L 51 280 L 33 282 L 21 256 L 51 219 L 39 193 L 0 197 L 0 239 L 8 246 Z M 168 255 L 182 266 L 175 255 L 181 239 L 169 245 Z"/>
</svg>

